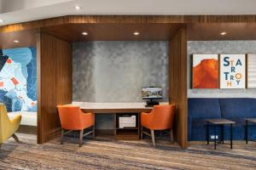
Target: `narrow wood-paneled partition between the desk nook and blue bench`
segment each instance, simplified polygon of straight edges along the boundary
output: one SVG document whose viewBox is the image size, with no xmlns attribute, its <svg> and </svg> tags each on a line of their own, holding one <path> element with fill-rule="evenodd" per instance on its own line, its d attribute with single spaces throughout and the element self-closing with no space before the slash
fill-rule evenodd
<svg viewBox="0 0 256 170">
<path fill-rule="evenodd" d="M 177 105 L 174 135 L 177 143 L 188 146 L 188 98 L 187 98 L 187 29 L 180 28 L 170 41 L 169 101 Z"/>
</svg>

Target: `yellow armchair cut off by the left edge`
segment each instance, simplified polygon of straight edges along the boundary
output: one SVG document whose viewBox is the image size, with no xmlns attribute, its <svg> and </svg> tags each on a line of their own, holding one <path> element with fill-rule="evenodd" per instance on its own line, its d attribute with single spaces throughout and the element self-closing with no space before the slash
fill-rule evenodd
<svg viewBox="0 0 256 170">
<path fill-rule="evenodd" d="M 0 148 L 3 142 L 10 137 L 13 137 L 16 142 L 19 142 L 15 132 L 20 127 L 20 121 L 21 115 L 17 115 L 14 119 L 10 120 L 5 105 L 0 104 Z"/>
</svg>

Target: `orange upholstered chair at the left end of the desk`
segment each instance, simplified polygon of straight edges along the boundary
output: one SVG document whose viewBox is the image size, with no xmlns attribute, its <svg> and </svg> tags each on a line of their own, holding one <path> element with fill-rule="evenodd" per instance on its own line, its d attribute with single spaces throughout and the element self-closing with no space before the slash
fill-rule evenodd
<svg viewBox="0 0 256 170">
<path fill-rule="evenodd" d="M 82 140 L 85 135 L 92 133 L 93 138 L 95 138 L 94 113 L 84 113 L 76 105 L 58 105 L 57 108 L 61 119 L 61 144 L 63 144 L 64 134 L 73 130 L 80 131 L 79 146 L 82 146 Z M 84 129 L 88 127 L 92 127 L 92 130 L 84 134 Z"/>
</svg>

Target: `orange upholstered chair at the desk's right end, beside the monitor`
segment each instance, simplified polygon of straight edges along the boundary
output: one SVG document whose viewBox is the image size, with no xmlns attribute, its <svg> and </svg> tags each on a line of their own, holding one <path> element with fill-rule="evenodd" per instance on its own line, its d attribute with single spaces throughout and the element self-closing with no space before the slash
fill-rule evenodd
<svg viewBox="0 0 256 170">
<path fill-rule="evenodd" d="M 176 105 L 154 105 L 153 110 L 150 113 L 141 113 L 141 139 L 143 139 L 143 133 L 152 138 L 153 146 L 154 142 L 154 130 L 170 130 L 171 139 L 173 141 L 173 119 L 176 110 Z M 151 134 L 143 132 L 143 127 L 150 129 Z"/>
</svg>

